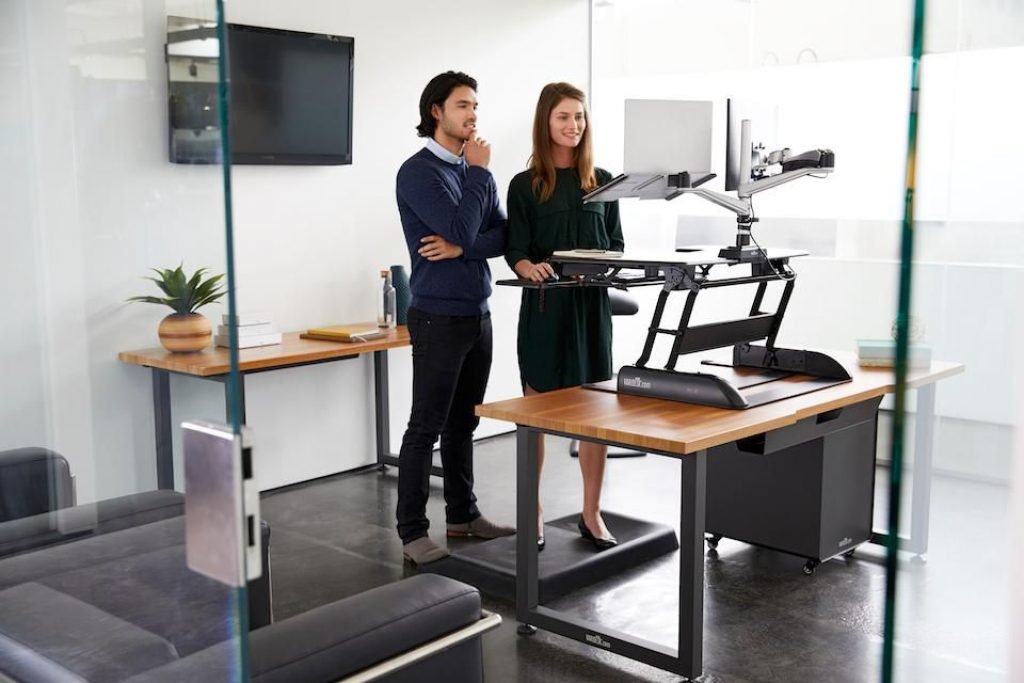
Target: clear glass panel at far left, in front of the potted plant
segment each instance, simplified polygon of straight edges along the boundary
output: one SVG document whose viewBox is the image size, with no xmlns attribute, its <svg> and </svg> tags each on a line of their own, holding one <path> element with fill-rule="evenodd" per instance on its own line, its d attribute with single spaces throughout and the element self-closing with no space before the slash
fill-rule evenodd
<svg viewBox="0 0 1024 683">
<path fill-rule="evenodd" d="M 189 568 L 211 562 L 186 527 L 217 527 L 185 523 L 179 427 L 240 429 L 231 359 L 222 382 L 182 370 L 231 285 L 219 4 L 0 1 L 0 678 L 246 678 L 245 581 Z M 210 29 L 182 68 L 203 96 L 177 109 L 172 14 Z M 212 140 L 209 163 L 171 163 L 179 136 Z"/>
</svg>

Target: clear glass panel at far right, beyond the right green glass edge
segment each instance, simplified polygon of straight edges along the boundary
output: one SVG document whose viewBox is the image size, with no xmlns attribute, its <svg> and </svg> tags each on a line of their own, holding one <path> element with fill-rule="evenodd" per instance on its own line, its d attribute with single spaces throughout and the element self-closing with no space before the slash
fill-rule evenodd
<svg viewBox="0 0 1024 683">
<path fill-rule="evenodd" d="M 1024 68 L 1024 7 L 922 4 L 908 343 L 958 372 L 907 405 L 900 519 L 919 543 L 897 563 L 888 680 L 1014 681 L 1024 207 L 1004 187 L 1024 153 L 1010 123 L 1024 96 L 1007 87 Z"/>
</svg>

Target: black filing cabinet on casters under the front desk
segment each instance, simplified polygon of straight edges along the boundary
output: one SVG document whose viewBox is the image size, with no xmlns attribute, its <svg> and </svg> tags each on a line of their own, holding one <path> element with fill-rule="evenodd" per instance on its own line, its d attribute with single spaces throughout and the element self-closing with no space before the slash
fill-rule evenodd
<svg viewBox="0 0 1024 683">
<path fill-rule="evenodd" d="M 871 537 L 881 398 L 711 449 L 706 528 L 819 562 Z"/>
</svg>

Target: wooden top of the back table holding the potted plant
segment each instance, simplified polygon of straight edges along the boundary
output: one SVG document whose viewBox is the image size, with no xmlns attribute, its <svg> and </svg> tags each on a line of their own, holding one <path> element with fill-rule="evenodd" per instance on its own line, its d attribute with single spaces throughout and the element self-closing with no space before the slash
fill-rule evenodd
<svg viewBox="0 0 1024 683">
<path fill-rule="evenodd" d="M 366 325 L 376 327 L 377 324 L 367 323 Z M 410 345 L 409 330 L 404 326 L 388 330 L 386 337 L 366 342 L 349 343 L 300 339 L 299 334 L 298 332 L 286 333 L 282 342 L 272 346 L 240 349 L 239 370 L 242 372 L 272 370 Z M 162 347 L 122 351 L 118 353 L 118 360 L 172 373 L 195 375 L 196 377 L 226 375 L 229 364 L 227 349 L 219 346 L 196 353 L 171 353 Z"/>
</svg>

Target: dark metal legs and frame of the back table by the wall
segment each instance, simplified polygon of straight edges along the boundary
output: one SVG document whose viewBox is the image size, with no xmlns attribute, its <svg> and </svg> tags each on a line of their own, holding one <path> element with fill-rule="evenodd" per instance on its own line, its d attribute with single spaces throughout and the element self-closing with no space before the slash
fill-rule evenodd
<svg viewBox="0 0 1024 683">
<path fill-rule="evenodd" d="M 239 420 L 243 424 L 246 421 L 246 376 L 257 373 L 272 372 L 275 370 L 287 370 L 289 368 L 301 368 L 303 366 L 316 366 L 324 362 L 334 362 L 336 360 L 350 360 L 356 358 L 361 353 L 350 355 L 340 355 L 334 358 L 323 358 L 318 360 L 308 360 L 291 362 L 272 368 L 260 368 L 256 370 L 243 370 L 239 372 Z M 154 427 L 156 431 L 157 444 L 157 487 L 174 488 L 174 446 L 173 446 L 173 426 L 171 424 L 171 383 L 172 374 L 182 377 L 190 377 L 202 380 L 211 380 L 224 385 L 224 416 L 230 421 L 230 396 L 227 382 L 228 375 L 193 375 L 190 373 L 176 373 L 160 368 L 151 368 L 153 371 L 153 415 Z M 381 471 L 388 465 L 398 466 L 397 455 L 391 453 L 391 427 L 389 419 L 389 395 L 388 395 L 388 365 L 387 350 L 374 351 L 374 411 L 376 414 L 377 428 L 377 463 Z M 441 475 L 441 468 L 434 465 L 431 467 L 431 474 Z"/>
</svg>

